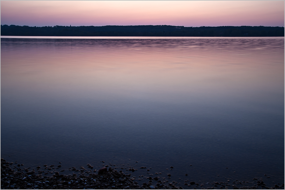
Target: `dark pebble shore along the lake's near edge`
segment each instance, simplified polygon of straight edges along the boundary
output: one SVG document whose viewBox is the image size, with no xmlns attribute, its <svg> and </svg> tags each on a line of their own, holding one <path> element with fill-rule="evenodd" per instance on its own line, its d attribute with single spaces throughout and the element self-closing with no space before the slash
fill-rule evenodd
<svg viewBox="0 0 285 190">
<path fill-rule="evenodd" d="M 61 162 L 36 168 L 17 161 L 1 158 L 1 189 L 284 189 L 284 183 L 271 181 L 274 176 L 264 174 L 251 181 L 221 178 L 221 181 L 191 181 L 171 179 L 168 173 L 151 174 L 151 168 L 135 164 L 113 164 L 100 161 L 102 166 L 85 164 L 80 167 L 63 168 Z M 98 169 L 94 169 L 98 168 Z M 144 175 L 141 175 L 145 173 Z"/>
</svg>

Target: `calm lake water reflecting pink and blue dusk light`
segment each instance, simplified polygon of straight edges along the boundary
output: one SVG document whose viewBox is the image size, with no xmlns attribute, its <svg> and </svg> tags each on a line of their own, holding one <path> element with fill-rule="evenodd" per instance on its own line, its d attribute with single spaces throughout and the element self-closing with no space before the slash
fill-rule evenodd
<svg viewBox="0 0 285 190">
<path fill-rule="evenodd" d="M 1 38 L 1 157 L 284 180 L 284 38 Z"/>
</svg>

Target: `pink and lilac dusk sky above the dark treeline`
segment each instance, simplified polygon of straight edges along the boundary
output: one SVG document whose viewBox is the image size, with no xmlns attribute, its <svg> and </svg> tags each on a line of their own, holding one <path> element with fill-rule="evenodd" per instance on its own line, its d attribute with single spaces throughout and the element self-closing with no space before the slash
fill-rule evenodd
<svg viewBox="0 0 285 190">
<path fill-rule="evenodd" d="M 19 26 L 284 26 L 284 1 L 0 1 Z"/>
</svg>

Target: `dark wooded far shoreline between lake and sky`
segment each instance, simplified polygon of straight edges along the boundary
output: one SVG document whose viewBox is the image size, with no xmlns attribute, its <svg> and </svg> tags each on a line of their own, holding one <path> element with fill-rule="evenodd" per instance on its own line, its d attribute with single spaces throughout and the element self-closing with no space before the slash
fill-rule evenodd
<svg viewBox="0 0 285 190">
<path fill-rule="evenodd" d="M 284 36 L 284 27 L 271 26 L 16 26 L 1 25 L 1 36 L 164 36 L 267 37 Z"/>
</svg>

